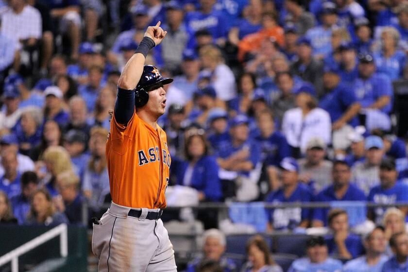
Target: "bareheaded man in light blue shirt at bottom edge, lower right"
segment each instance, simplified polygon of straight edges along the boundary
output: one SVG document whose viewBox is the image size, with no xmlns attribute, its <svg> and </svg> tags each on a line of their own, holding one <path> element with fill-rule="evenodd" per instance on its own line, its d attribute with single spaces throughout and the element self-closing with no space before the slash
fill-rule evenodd
<svg viewBox="0 0 408 272">
<path fill-rule="evenodd" d="M 375 227 L 364 238 L 366 254 L 348 261 L 343 272 L 381 272 L 382 266 L 388 260 L 384 255 L 386 244 L 384 228 Z"/>
</svg>

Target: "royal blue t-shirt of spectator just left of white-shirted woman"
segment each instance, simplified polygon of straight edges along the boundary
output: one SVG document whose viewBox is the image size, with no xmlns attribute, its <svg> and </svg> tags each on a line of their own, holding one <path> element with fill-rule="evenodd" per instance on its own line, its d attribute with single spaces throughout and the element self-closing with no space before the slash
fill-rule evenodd
<svg viewBox="0 0 408 272">
<path fill-rule="evenodd" d="M 255 139 L 261 144 L 262 161 L 267 166 L 278 166 L 283 158 L 290 156 L 288 141 L 278 131 L 273 132 L 268 138 L 257 136 Z"/>
</svg>

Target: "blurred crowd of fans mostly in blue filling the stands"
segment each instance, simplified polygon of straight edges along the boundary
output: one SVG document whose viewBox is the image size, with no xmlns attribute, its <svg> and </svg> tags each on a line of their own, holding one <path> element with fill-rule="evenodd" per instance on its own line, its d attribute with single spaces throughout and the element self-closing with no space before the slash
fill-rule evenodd
<svg viewBox="0 0 408 272">
<path fill-rule="evenodd" d="M 290 271 L 337 271 L 328 254 L 354 259 L 345 271 L 381 271 L 392 252 L 383 271 L 407 265 L 408 208 L 364 207 L 408 201 L 394 95 L 408 80 L 405 0 L 0 0 L 1 223 L 83 224 L 83 203 L 91 217 L 110 202 L 109 111 L 120 71 L 159 20 L 168 34 L 146 64 L 174 78 L 158 121 L 170 186 L 195 189 L 200 203 L 336 203 L 265 209 L 265 232 L 330 229 Z M 209 229 L 216 215 L 198 219 Z M 382 227 L 350 232 L 365 220 Z M 247 249 L 248 271 L 279 271 L 261 239 Z"/>
</svg>

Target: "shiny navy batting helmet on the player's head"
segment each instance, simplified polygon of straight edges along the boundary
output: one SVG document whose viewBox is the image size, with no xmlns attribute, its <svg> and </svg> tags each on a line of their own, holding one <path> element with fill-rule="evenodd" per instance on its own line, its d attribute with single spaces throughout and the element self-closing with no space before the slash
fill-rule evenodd
<svg viewBox="0 0 408 272">
<path fill-rule="evenodd" d="M 157 89 L 172 81 L 172 78 L 162 77 L 160 71 L 153 65 L 145 65 L 135 89 L 135 106 L 137 108 L 143 107 L 149 101 L 148 91 Z"/>
</svg>

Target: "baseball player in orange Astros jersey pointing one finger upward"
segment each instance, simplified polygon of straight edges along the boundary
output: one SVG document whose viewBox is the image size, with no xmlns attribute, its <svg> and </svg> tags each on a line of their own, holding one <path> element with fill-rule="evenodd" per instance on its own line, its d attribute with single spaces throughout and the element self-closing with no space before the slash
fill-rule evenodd
<svg viewBox="0 0 408 272">
<path fill-rule="evenodd" d="M 127 62 L 106 143 L 112 203 L 93 225 L 92 251 L 101 272 L 175 272 L 174 251 L 160 220 L 166 207 L 170 154 L 166 133 L 157 125 L 164 114 L 171 78 L 144 65 L 148 52 L 167 32 L 148 27 Z"/>
</svg>

